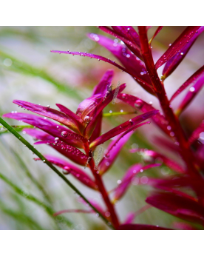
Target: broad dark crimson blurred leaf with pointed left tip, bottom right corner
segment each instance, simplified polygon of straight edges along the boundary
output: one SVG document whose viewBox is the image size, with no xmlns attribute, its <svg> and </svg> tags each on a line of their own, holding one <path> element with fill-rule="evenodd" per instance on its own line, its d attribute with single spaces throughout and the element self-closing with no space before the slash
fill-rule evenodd
<svg viewBox="0 0 204 256">
<path fill-rule="evenodd" d="M 177 218 L 203 224 L 204 207 L 187 196 L 181 197 L 169 192 L 160 192 L 146 198 L 146 203 Z"/>
</svg>

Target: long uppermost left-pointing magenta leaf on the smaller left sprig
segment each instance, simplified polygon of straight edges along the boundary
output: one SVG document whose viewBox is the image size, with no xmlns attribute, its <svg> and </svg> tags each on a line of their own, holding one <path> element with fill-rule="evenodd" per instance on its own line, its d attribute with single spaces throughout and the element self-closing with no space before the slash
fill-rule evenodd
<svg viewBox="0 0 204 256">
<path fill-rule="evenodd" d="M 65 126 L 79 133 L 77 122 L 73 120 L 70 116 L 65 115 L 63 112 L 53 110 L 50 107 L 43 107 L 38 104 L 33 104 L 27 101 L 14 100 L 13 103 L 23 107 L 26 110 L 30 110 L 31 112 L 34 112 L 38 115 L 44 115 L 47 118 L 51 118 L 55 121 L 58 121 L 59 123 L 64 124 Z"/>
</svg>

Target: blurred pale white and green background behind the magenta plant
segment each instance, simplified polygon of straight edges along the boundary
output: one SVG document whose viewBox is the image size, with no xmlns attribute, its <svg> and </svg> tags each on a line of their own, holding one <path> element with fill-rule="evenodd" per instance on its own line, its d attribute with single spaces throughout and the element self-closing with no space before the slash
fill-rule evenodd
<svg viewBox="0 0 204 256">
<path fill-rule="evenodd" d="M 163 30 L 152 42 L 155 61 L 184 29 L 185 27 L 163 27 Z M 156 27 L 149 30 L 149 38 L 155 30 Z M 19 110 L 16 104 L 12 103 L 14 99 L 44 106 L 50 105 L 56 109 L 55 104 L 60 103 L 75 112 L 78 104 L 91 95 L 92 88 L 98 84 L 101 76 L 108 69 L 115 70 L 113 84 L 116 85 L 118 81 L 126 83 L 125 92 L 137 95 L 147 102 L 152 101 L 153 106 L 160 109 L 157 99 L 145 92 L 128 74 L 122 73 L 121 70 L 110 64 L 80 56 L 50 53 L 50 50 L 74 50 L 115 59 L 106 49 L 87 38 L 87 33 L 105 35 L 97 27 L 0 27 L 0 114 Z M 166 79 L 165 87 L 169 97 L 203 65 L 203 41 L 204 35 L 201 35 L 182 64 Z M 160 74 L 162 69 L 163 67 L 160 67 L 158 70 Z M 190 134 L 203 120 L 203 93 L 202 90 L 180 117 L 186 134 Z M 177 97 L 172 104 L 173 107 L 177 107 L 184 94 L 185 92 Z M 118 102 L 115 105 L 109 104 L 104 112 L 121 110 L 132 111 L 125 104 Z M 24 110 L 21 111 L 24 112 Z M 134 116 L 104 117 L 102 132 L 106 132 Z M 7 119 L 7 121 L 11 125 L 19 124 L 11 119 Z M 22 134 L 22 136 L 31 144 L 35 142 L 26 134 Z M 129 149 L 139 146 L 157 149 L 169 155 L 165 149 L 154 144 L 155 136 L 163 135 L 154 127 L 154 124 L 141 127 L 135 132 L 123 147 L 112 169 L 104 175 L 108 190 L 117 186 L 117 181 L 129 166 L 137 162 L 144 163 L 143 155 L 131 154 Z M 103 144 L 103 148 L 106 149 L 107 145 L 108 143 Z M 37 149 L 42 154 L 59 155 L 47 145 L 38 145 Z M 171 155 L 171 157 L 180 161 L 177 155 Z M 96 215 L 67 213 L 60 218 L 53 218 L 45 209 L 45 204 L 56 212 L 62 209 L 86 209 L 86 206 L 78 202 L 77 195 L 72 192 L 72 189 L 69 189 L 64 181 L 61 181 L 58 175 L 55 175 L 48 166 L 40 161 L 34 161 L 33 158 L 30 150 L 1 128 L 0 229 L 107 229 Z M 170 169 L 161 166 L 149 170 L 145 176 L 170 174 Z M 132 181 L 131 188 L 116 204 L 121 221 L 126 218 L 128 212 L 135 212 L 146 204 L 146 195 L 152 189 L 145 183 L 137 185 L 138 179 L 143 176 L 140 174 Z M 68 178 L 87 198 L 103 204 L 98 193 L 92 192 L 71 176 Z M 143 179 L 143 181 L 145 180 Z M 136 223 L 169 228 L 174 227 L 174 223 L 177 221 L 177 218 L 154 208 L 146 210 L 135 219 Z"/>
</svg>

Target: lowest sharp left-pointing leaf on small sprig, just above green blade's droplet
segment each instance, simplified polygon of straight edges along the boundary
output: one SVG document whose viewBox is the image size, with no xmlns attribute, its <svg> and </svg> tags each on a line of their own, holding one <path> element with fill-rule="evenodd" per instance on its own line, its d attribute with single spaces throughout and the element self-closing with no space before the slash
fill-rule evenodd
<svg viewBox="0 0 204 256">
<path fill-rule="evenodd" d="M 56 166 L 62 168 L 67 172 L 67 174 L 73 175 L 75 178 L 78 179 L 78 181 L 81 181 L 81 183 L 84 183 L 84 185 L 89 186 L 91 189 L 98 189 L 98 186 L 92 179 L 89 177 L 89 175 L 86 174 L 86 172 L 79 169 L 77 166 L 70 164 L 67 161 L 64 161 L 61 158 L 56 158 L 52 155 L 45 155 L 45 158 L 47 158 L 50 163 L 55 164 Z M 35 160 L 41 160 L 40 158 L 37 158 Z"/>
</svg>

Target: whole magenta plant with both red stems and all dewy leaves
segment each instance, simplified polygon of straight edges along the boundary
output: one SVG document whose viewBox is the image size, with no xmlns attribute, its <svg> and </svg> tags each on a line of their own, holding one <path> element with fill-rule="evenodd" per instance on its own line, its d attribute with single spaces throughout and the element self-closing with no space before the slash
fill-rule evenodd
<svg viewBox="0 0 204 256">
<path fill-rule="evenodd" d="M 199 138 L 200 134 L 204 132 L 204 123 L 202 122 L 190 136 L 187 136 L 183 131 L 183 127 L 181 127 L 179 118 L 183 110 L 188 107 L 203 87 L 204 66 L 191 75 L 174 92 L 171 98 L 166 94 L 164 82 L 174 72 L 180 62 L 183 61 L 194 41 L 203 32 L 204 27 L 186 27 L 183 33 L 173 43 L 169 44 L 169 49 L 160 56 L 156 63 L 154 63 L 152 57 L 151 44 L 157 33 L 160 33 L 160 30 L 162 30 L 162 27 L 158 27 L 154 36 L 150 39 L 148 38 L 149 27 L 138 27 L 138 33 L 133 27 L 129 26 L 99 27 L 99 29 L 114 38 L 107 38 L 99 34 L 90 34 L 89 38 L 101 44 L 112 55 L 115 55 L 122 66 L 109 58 L 92 53 L 72 52 L 69 50 L 52 50 L 51 52 L 97 58 L 98 61 L 105 61 L 118 67 L 123 72 L 131 75 L 137 84 L 140 84 L 146 90 L 146 93 L 151 93 L 157 98 L 157 101 L 160 103 L 160 110 L 154 109 L 152 104 L 138 98 L 136 95 L 123 93 L 126 84 L 121 84 L 120 87 L 112 90 L 113 71 L 107 70 L 99 84 L 94 88 L 92 95 L 78 105 L 75 113 L 61 104 L 56 104 L 59 110 L 54 110 L 49 106 L 42 107 L 27 101 L 14 100 L 13 102 L 19 107 L 23 107 L 43 117 L 13 112 L 3 115 L 4 118 L 13 118 L 36 127 L 36 129 L 24 129 L 28 135 L 38 139 L 35 145 L 48 144 L 69 159 L 69 161 L 64 161 L 52 155 L 44 155 L 46 159 L 44 161 L 49 161 L 48 163 L 60 167 L 63 169 L 63 175 L 73 175 L 84 186 L 88 186 L 89 189 L 100 193 L 106 206 L 103 208 L 94 201 L 86 200 L 82 196 L 81 201 L 86 203 L 86 206 L 88 202 L 89 206 L 87 207 L 89 208 L 87 210 L 74 209 L 72 211 L 95 213 L 101 216 L 112 229 L 166 229 L 160 226 L 134 223 L 135 213 L 130 213 L 126 220 L 121 222 L 118 218 L 120 212 L 115 210 L 115 202 L 119 201 L 129 186 L 131 186 L 132 178 L 140 172 L 145 172 L 146 169 L 160 166 L 160 163 L 156 161 L 160 159 L 174 174 L 169 175 L 167 178 L 148 178 L 146 186 L 153 186 L 154 192 L 146 198 L 147 204 L 143 209 L 140 209 L 140 212 L 148 209 L 150 206 L 154 206 L 185 220 L 186 229 L 203 229 L 204 146 L 199 142 Z M 115 38 L 118 40 L 115 40 Z M 157 69 L 162 65 L 164 65 L 163 74 L 159 77 Z M 183 90 L 187 90 L 186 95 L 180 101 L 179 107 L 173 110 L 171 101 L 174 101 Z M 131 106 L 132 109 L 140 112 L 140 115 L 135 114 L 134 118 L 101 135 L 103 109 L 115 97 Z M 52 119 L 52 121 L 47 118 Z M 151 124 L 150 121 L 152 121 Z M 111 192 L 107 191 L 103 182 L 103 175 L 111 170 L 112 164 L 114 164 L 120 150 L 135 130 L 139 127 L 143 129 L 142 126 L 147 124 L 150 124 L 150 126 L 155 124 L 166 135 L 166 138 L 171 139 L 171 142 L 169 142 L 165 139 L 157 138 L 155 143 L 166 147 L 171 152 L 171 155 L 180 155 L 183 164 L 177 163 L 169 155 L 162 155 L 152 149 L 131 149 L 132 153 L 142 152 L 143 155 L 148 156 L 151 159 L 151 163 L 147 165 L 135 163 L 130 166 L 126 172 L 124 170 L 122 178 L 118 177 L 120 178 L 118 186 L 113 188 Z M 113 139 L 103 154 L 100 145 L 111 138 Z M 96 147 L 99 148 L 98 154 L 103 154 L 101 161 L 93 157 Z M 42 159 L 35 158 L 35 160 Z M 72 164 L 72 162 L 80 165 L 81 168 Z M 88 168 L 91 170 L 92 176 L 86 172 Z M 154 169 L 152 172 L 154 172 Z M 75 186 L 72 186 L 72 188 L 75 189 Z M 69 212 L 69 209 L 56 212 L 55 215 L 64 212 Z"/>
</svg>

